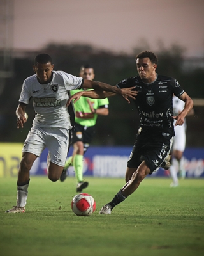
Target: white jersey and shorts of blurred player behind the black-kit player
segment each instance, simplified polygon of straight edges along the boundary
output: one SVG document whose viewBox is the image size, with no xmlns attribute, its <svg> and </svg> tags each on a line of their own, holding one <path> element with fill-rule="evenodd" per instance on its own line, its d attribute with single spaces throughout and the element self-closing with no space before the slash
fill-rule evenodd
<svg viewBox="0 0 204 256">
<path fill-rule="evenodd" d="M 173 96 L 173 115 L 177 116 L 184 109 L 184 101 L 178 97 Z M 175 124 L 176 120 L 174 120 Z M 173 139 L 173 150 L 179 150 L 184 152 L 186 146 L 186 122 L 183 125 L 177 125 L 174 127 L 175 137 Z"/>
</svg>

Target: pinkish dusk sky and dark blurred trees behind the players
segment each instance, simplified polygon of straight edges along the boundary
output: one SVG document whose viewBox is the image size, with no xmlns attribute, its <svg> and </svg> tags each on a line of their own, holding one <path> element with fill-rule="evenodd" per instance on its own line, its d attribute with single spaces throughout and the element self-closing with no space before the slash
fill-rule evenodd
<svg viewBox="0 0 204 256">
<path fill-rule="evenodd" d="M 136 76 L 135 55 L 147 49 L 159 58 L 157 73 L 175 77 L 194 100 L 187 118 L 187 147 L 204 147 L 203 1 L 1 1 L 1 142 L 24 142 L 15 109 L 36 54 L 52 56 L 55 70 L 78 76 L 94 66 L 96 80 L 116 84 Z M 139 124 L 134 104 L 110 98 L 99 116 L 92 145 L 133 145 Z"/>
</svg>

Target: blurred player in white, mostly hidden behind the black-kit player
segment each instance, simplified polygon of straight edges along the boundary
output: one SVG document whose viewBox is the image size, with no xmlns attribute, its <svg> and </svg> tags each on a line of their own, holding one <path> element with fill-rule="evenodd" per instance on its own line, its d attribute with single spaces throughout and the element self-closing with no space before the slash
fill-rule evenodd
<svg viewBox="0 0 204 256">
<path fill-rule="evenodd" d="M 184 109 L 184 101 L 180 100 L 178 97 L 173 96 L 173 115 L 177 116 Z M 191 109 L 192 115 L 193 109 Z M 175 124 L 175 121 L 174 121 Z M 178 173 L 181 178 L 186 177 L 186 170 L 184 168 L 184 157 L 183 153 L 186 147 L 186 119 L 184 125 L 175 126 L 175 136 L 173 138 L 172 145 L 172 165 L 170 166 L 170 174 L 173 179 L 173 182 L 170 184 L 171 187 L 179 186 Z"/>
</svg>

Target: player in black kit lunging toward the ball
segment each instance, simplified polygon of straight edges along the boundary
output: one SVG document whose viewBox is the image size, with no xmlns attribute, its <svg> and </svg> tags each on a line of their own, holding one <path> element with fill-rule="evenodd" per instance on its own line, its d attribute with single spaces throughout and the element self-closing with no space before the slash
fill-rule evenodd
<svg viewBox="0 0 204 256">
<path fill-rule="evenodd" d="M 100 214 L 111 214 L 115 205 L 123 202 L 140 185 L 147 176 L 156 172 L 160 167 L 169 168 L 169 152 L 175 135 L 175 125 L 184 124 L 184 118 L 193 108 L 193 100 L 180 87 L 173 77 L 161 76 L 156 73 L 157 56 L 150 51 L 143 51 L 135 58 L 139 76 L 124 79 L 116 86 L 135 88 L 138 94 L 134 100 L 140 115 L 140 126 L 136 135 L 133 150 L 129 156 L 126 170 L 126 184 L 105 204 Z M 109 97 L 114 93 L 92 92 L 87 97 Z M 81 95 L 78 95 L 80 97 Z M 185 102 L 184 109 L 179 115 L 173 116 L 173 95 Z M 73 95 L 74 96 L 74 95 Z M 72 99 L 78 100 L 77 95 Z"/>
</svg>

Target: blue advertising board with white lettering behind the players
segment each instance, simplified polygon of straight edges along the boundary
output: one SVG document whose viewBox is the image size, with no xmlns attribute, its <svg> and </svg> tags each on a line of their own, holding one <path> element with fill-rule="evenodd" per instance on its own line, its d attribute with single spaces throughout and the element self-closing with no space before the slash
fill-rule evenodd
<svg viewBox="0 0 204 256">
<path fill-rule="evenodd" d="M 72 148 L 68 156 L 71 156 Z M 131 147 L 90 147 L 84 156 L 84 175 L 94 177 L 122 177 L 126 173 L 126 166 L 131 153 Z M 31 175 L 45 175 L 47 173 L 47 150 L 31 169 Z M 184 152 L 184 166 L 186 177 L 204 177 L 204 148 L 186 148 Z M 75 175 L 73 167 L 69 167 L 68 175 Z M 169 171 L 160 168 L 149 177 L 167 177 Z"/>
</svg>

